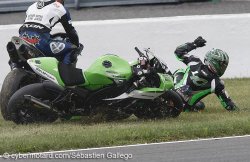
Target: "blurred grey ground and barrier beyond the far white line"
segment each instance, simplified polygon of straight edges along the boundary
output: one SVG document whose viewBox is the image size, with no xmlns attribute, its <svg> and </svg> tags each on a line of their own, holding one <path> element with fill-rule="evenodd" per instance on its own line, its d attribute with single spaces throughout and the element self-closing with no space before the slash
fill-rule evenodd
<svg viewBox="0 0 250 162">
<path fill-rule="evenodd" d="M 0 0 L 0 25 L 22 24 L 36 0 Z M 249 0 L 65 0 L 73 21 L 249 13 Z"/>
</svg>

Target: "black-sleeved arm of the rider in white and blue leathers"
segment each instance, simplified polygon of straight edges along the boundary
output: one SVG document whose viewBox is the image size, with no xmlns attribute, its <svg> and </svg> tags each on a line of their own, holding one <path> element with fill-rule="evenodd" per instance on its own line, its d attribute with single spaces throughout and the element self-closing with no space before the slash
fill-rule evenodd
<svg viewBox="0 0 250 162">
<path fill-rule="evenodd" d="M 79 46 L 79 37 L 78 34 L 71 23 L 71 17 L 69 11 L 66 9 L 66 14 L 61 17 L 60 22 L 62 23 L 71 43 Z"/>
</svg>

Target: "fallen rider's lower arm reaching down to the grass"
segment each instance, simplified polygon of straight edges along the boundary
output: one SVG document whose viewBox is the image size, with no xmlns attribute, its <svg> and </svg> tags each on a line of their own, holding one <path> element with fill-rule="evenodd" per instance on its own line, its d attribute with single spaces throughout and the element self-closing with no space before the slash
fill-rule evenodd
<svg viewBox="0 0 250 162">
<path fill-rule="evenodd" d="M 217 80 L 215 84 L 215 94 L 219 98 L 222 106 L 228 111 L 239 110 L 226 92 L 224 82 L 222 80 Z"/>
</svg>

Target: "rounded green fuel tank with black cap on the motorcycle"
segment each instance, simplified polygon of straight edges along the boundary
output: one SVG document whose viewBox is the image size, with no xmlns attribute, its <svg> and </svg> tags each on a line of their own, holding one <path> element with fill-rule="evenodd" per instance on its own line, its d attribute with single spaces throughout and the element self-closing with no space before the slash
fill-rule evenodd
<svg viewBox="0 0 250 162">
<path fill-rule="evenodd" d="M 104 62 L 111 63 L 105 67 Z M 113 84 L 116 80 L 129 80 L 132 76 L 131 65 L 116 55 L 103 55 L 99 57 L 88 69 L 84 71 L 87 82 L 82 85 L 90 90 L 96 90 Z"/>
</svg>

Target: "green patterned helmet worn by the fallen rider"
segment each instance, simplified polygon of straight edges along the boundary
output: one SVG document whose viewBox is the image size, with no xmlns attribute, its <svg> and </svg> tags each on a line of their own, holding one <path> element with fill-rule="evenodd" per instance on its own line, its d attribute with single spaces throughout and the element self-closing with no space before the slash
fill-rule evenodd
<svg viewBox="0 0 250 162">
<path fill-rule="evenodd" d="M 212 49 L 207 52 L 204 63 L 212 72 L 221 77 L 227 69 L 229 57 L 226 52 L 220 49 Z"/>
</svg>

